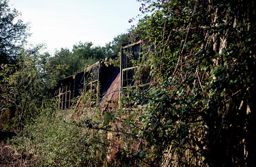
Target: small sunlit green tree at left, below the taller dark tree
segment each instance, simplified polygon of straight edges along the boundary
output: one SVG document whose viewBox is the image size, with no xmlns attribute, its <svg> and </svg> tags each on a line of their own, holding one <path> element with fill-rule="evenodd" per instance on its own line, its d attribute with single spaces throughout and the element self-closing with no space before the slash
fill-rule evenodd
<svg viewBox="0 0 256 167">
<path fill-rule="evenodd" d="M 40 54 L 41 45 L 22 50 L 17 62 L 0 73 L 2 115 L 9 113 L 11 129 L 22 128 L 38 116 L 38 108 L 50 97 L 50 83 L 45 77 L 49 54 Z M 49 71 L 49 70 L 48 70 Z"/>
</svg>

